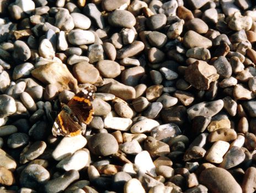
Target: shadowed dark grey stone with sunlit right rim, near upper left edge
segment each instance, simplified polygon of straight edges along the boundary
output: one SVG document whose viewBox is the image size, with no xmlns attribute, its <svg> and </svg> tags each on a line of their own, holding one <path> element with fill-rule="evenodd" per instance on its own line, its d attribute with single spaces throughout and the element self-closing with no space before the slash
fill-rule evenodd
<svg viewBox="0 0 256 193">
<path fill-rule="evenodd" d="M 25 62 L 31 57 L 29 46 L 24 41 L 17 40 L 14 42 L 13 57 L 18 61 Z"/>
</svg>

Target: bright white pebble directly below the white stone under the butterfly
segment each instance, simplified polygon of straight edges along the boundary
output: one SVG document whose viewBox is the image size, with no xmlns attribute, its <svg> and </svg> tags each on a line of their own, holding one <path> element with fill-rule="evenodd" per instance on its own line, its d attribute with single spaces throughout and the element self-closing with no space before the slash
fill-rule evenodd
<svg viewBox="0 0 256 193">
<path fill-rule="evenodd" d="M 56 168 L 61 168 L 65 171 L 81 170 L 88 164 L 89 154 L 86 151 L 78 150 L 71 156 L 62 159 L 56 165 Z"/>
</svg>

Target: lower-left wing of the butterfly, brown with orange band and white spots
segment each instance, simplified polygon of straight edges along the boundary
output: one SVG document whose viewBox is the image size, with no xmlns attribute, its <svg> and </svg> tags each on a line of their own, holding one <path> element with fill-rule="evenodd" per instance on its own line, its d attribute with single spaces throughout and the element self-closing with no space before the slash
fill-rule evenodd
<svg viewBox="0 0 256 193">
<path fill-rule="evenodd" d="M 75 122 L 65 111 L 61 111 L 55 119 L 52 127 L 52 135 L 57 136 L 76 136 L 81 134 L 82 127 Z"/>
</svg>

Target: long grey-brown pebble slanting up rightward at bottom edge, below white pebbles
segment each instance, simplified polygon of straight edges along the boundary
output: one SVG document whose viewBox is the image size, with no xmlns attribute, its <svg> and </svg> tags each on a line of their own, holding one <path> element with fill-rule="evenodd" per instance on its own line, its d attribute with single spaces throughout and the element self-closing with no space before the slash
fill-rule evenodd
<svg viewBox="0 0 256 193">
<path fill-rule="evenodd" d="M 79 173 L 77 170 L 66 171 L 58 178 L 47 181 L 44 185 L 44 191 L 47 193 L 60 192 L 65 190 L 73 181 L 79 179 Z"/>
</svg>

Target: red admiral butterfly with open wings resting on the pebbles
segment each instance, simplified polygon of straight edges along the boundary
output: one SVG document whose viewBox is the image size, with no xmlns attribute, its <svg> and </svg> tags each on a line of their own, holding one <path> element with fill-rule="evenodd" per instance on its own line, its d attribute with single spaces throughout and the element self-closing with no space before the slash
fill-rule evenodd
<svg viewBox="0 0 256 193">
<path fill-rule="evenodd" d="M 61 104 L 61 111 L 57 115 L 52 135 L 73 137 L 84 131 L 82 124 L 88 125 L 93 119 L 93 107 L 91 101 L 94 99 L 95 89 L 87 88 L 78 92 L 68 102 Z"/>
</svg>

